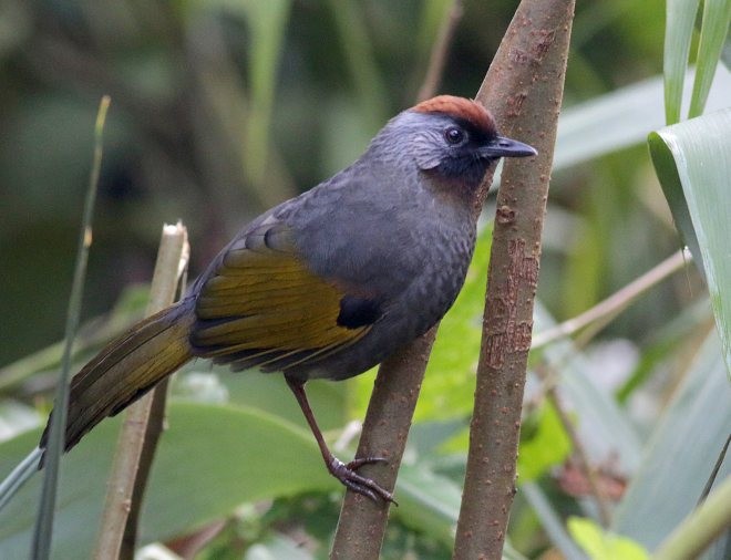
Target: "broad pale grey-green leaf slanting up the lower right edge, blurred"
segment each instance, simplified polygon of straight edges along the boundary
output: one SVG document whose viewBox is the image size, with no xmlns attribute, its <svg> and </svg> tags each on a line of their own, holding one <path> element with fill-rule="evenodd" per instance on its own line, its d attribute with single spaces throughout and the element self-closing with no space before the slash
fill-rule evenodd
<svg viewBox="0 0 731 560">
<path fill-rule="evenodd" d="M 715 333 L 678 387 L 619 504 L 612 530 L 655 549 L 694 508 L 731 426 L 731 386 Z M 731 475 L 728 460 L 719 480 Z"/>
</svg>

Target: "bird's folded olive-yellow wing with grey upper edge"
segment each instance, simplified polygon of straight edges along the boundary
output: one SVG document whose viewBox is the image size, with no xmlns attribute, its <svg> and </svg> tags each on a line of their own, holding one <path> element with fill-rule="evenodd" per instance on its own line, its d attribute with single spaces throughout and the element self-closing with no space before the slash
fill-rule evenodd
<svg viewBox="0 0 731 560">
<path fill-rule="evenodd" d="M 292 237 L 268 218 L 228 247 L 196 300 L 191 342 L 198 355 L 236 369 L 286 370 L 346 349 L 371 329 L 338 323 L 348 290 L 310 272 Z"/>
</svg>

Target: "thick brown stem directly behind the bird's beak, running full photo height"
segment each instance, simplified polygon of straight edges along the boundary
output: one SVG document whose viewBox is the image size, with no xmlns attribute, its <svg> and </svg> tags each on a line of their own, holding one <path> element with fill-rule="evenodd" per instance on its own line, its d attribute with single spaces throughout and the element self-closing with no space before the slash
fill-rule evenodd
<svg viewBox="0 0 731 560">
<path fill-rule="evenodd" d="M 513 497 L 540 236 L 574 0 L 524 0 L 477 101 L 506 136 L 538 149 L 507 160 L 497 193 L 467 474 L 454 558 L 501 558 Z M 486 187 L 485 187 L 486 190 Z"/>
</svg>

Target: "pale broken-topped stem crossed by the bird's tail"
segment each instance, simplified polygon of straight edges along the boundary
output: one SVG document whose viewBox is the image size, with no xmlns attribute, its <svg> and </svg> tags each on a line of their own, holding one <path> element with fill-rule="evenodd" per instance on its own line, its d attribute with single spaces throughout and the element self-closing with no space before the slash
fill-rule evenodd
<svg viewBox="0 0 731 560">
<path fill-rule="evenodd" d="M 178 280 L 183 273 L 181 262 L 183 258 L 187 258 L 187 250 L 184 250 L 186 245 L 187 232 L 181 224 L 163 228 L 147 315 L 173 303 Z M 143 477 L 143 483 L 146 478 L 146 473 L 144 468 L 142 471 L 140 470 L 140 465 L 156 391 L 158 390 L 143 396 L 126 411 L 110 475 L 102 525 L 93 554 L 95 559 L 113 559 L 120 558 L 122 554 L 124 535 L 130 532 L 126 528 L 133 497 L 142 496 L 138 477 Z M 162 422 L 159 424 L 162 426 Z M 124 558 L 132 558 L 128 547 L 124 551 Z M 134 552 L 134 545 L 132 552 Z"/>
</svg>

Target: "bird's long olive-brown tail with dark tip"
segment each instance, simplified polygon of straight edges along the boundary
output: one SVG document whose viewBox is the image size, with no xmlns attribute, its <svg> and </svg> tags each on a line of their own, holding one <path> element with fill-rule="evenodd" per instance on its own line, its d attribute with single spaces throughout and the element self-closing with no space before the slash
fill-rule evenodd
<svg viewBox="0 0 731 560">
<path fill-rule="evenodd" d="M 193 357 L 191 300 L 135 324 L 110 342 L 72 380 L 64 449 L 106 416 L 113 416 Z M 45 448 L 48 427 L 41 438 Z"/>
</svg>

